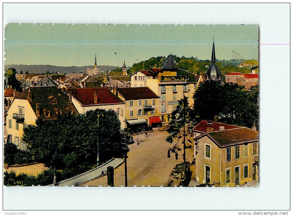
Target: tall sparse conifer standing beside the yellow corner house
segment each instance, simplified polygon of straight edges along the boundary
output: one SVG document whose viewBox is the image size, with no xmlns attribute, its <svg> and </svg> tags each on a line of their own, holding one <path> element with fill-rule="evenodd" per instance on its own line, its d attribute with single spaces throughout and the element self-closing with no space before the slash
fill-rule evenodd
<svg viewBox="0 0 293 216">
<path fill-rule="evenodd" d="M 183 173 L 184 173 L 184 185 L 188 186 L 190 180 L 187 179 L 187 161 L 186 161 L 186 149 L 192 148 L 192 140 L 187 138 L 186 133 L 186 124 L 191 120 L 192 109 L 188 106 L 187 97 L 178 101 L 176 109 L 171 114 L 171 122 L 169 129 L 167 130 L 170 135 L 166 138 L 166 141 L 173 144 L 174 139 L 177 139 L 177 142 L 174 143 L 173 147 L 169 150 L 173 153 L 181 151 L 180 146 L 178 145 L 179 141 L 182 141 L 183 144 Z"/>
</svg>

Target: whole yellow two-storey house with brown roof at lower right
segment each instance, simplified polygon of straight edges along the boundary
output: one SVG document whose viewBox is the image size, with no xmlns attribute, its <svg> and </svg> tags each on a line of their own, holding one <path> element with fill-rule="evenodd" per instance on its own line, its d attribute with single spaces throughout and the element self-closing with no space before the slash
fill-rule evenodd
<svg viewBox="0 0 293 216">
<path fill-rule="evenodd" d="M 258 132 L 233 128 L 195 138 L 196 181 L 235 187 L 258 181 Z"/>
</svg>

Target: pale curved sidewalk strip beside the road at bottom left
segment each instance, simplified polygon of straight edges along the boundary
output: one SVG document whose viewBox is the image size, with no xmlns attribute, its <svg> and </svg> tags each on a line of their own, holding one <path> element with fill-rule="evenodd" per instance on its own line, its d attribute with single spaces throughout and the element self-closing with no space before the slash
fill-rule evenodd
<svg viewBox="0 0 293 216">
<path fill-rule="evenodd" d="M 66 186 L 66 185 L 67 186 L 72 186 L 72 185 L 76 186 L 78 184 L 81 184 L 81 183 L 87 182 L 89 180 L 98 178 L 99 176 L 101 176 L 102 171 L 107 170 L 107 167 L 112 166 L 115 169 L 116 167 L 121 165 L 123 162 L 124 162 L 124 160 L 120 159 L 120 158 L 112 159 L 112 160 L 102 164 L 101 166 L 96 167 L 88 172 L 82 173 L 80 175 L 77 175 L 72 178 L 69 178 L 69 179 L 66 179 L 66 180 L 59 182 L 59 186 Z M 49 186 L 52 186 L 52 185 L 49 185 Z"/>
</svg>

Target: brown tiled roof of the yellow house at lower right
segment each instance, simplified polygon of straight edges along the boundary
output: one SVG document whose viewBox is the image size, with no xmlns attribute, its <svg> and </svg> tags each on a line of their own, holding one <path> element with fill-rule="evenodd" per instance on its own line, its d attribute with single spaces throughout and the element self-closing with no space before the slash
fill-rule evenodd
<svg viewBox="0 0 293 216">
<path fill-rule="evenodd" d="M 208 133 L 220 145 L 246 143 L 258 139 L 258 131 L 249 128 L 234 128 Z"/>
</svg>

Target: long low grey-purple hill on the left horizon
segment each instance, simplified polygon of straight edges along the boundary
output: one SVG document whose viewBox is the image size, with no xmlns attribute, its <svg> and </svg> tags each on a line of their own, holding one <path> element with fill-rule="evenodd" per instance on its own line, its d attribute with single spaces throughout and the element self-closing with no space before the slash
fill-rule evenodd
<svg viewBox="0 0 293 216">
<path fill-rule="evenodd" d="M 28 71 L 29 73 L 46 73 L 47 71 L 52 72 L 54 71 L 59 72 L 60 74 L 64 73 L 81 73 L 86 72 L 86 69 L 93 68 L 93 65 L 88 66 L 71 66 L 71 67 L 61 67 L 61 66 L 54 66 L 54 65 L 5 65 L 4 70 L 7 70 L 9 67 L 13 67 L 16 69 L 17 72 L 22 70 L 23 73 Z M 108 65 L 98 65 L 97 66 L 99 71 L 107 72 L 110 70 L 116 69 L 118 66 L 108 66 Z"/>
</svg>

